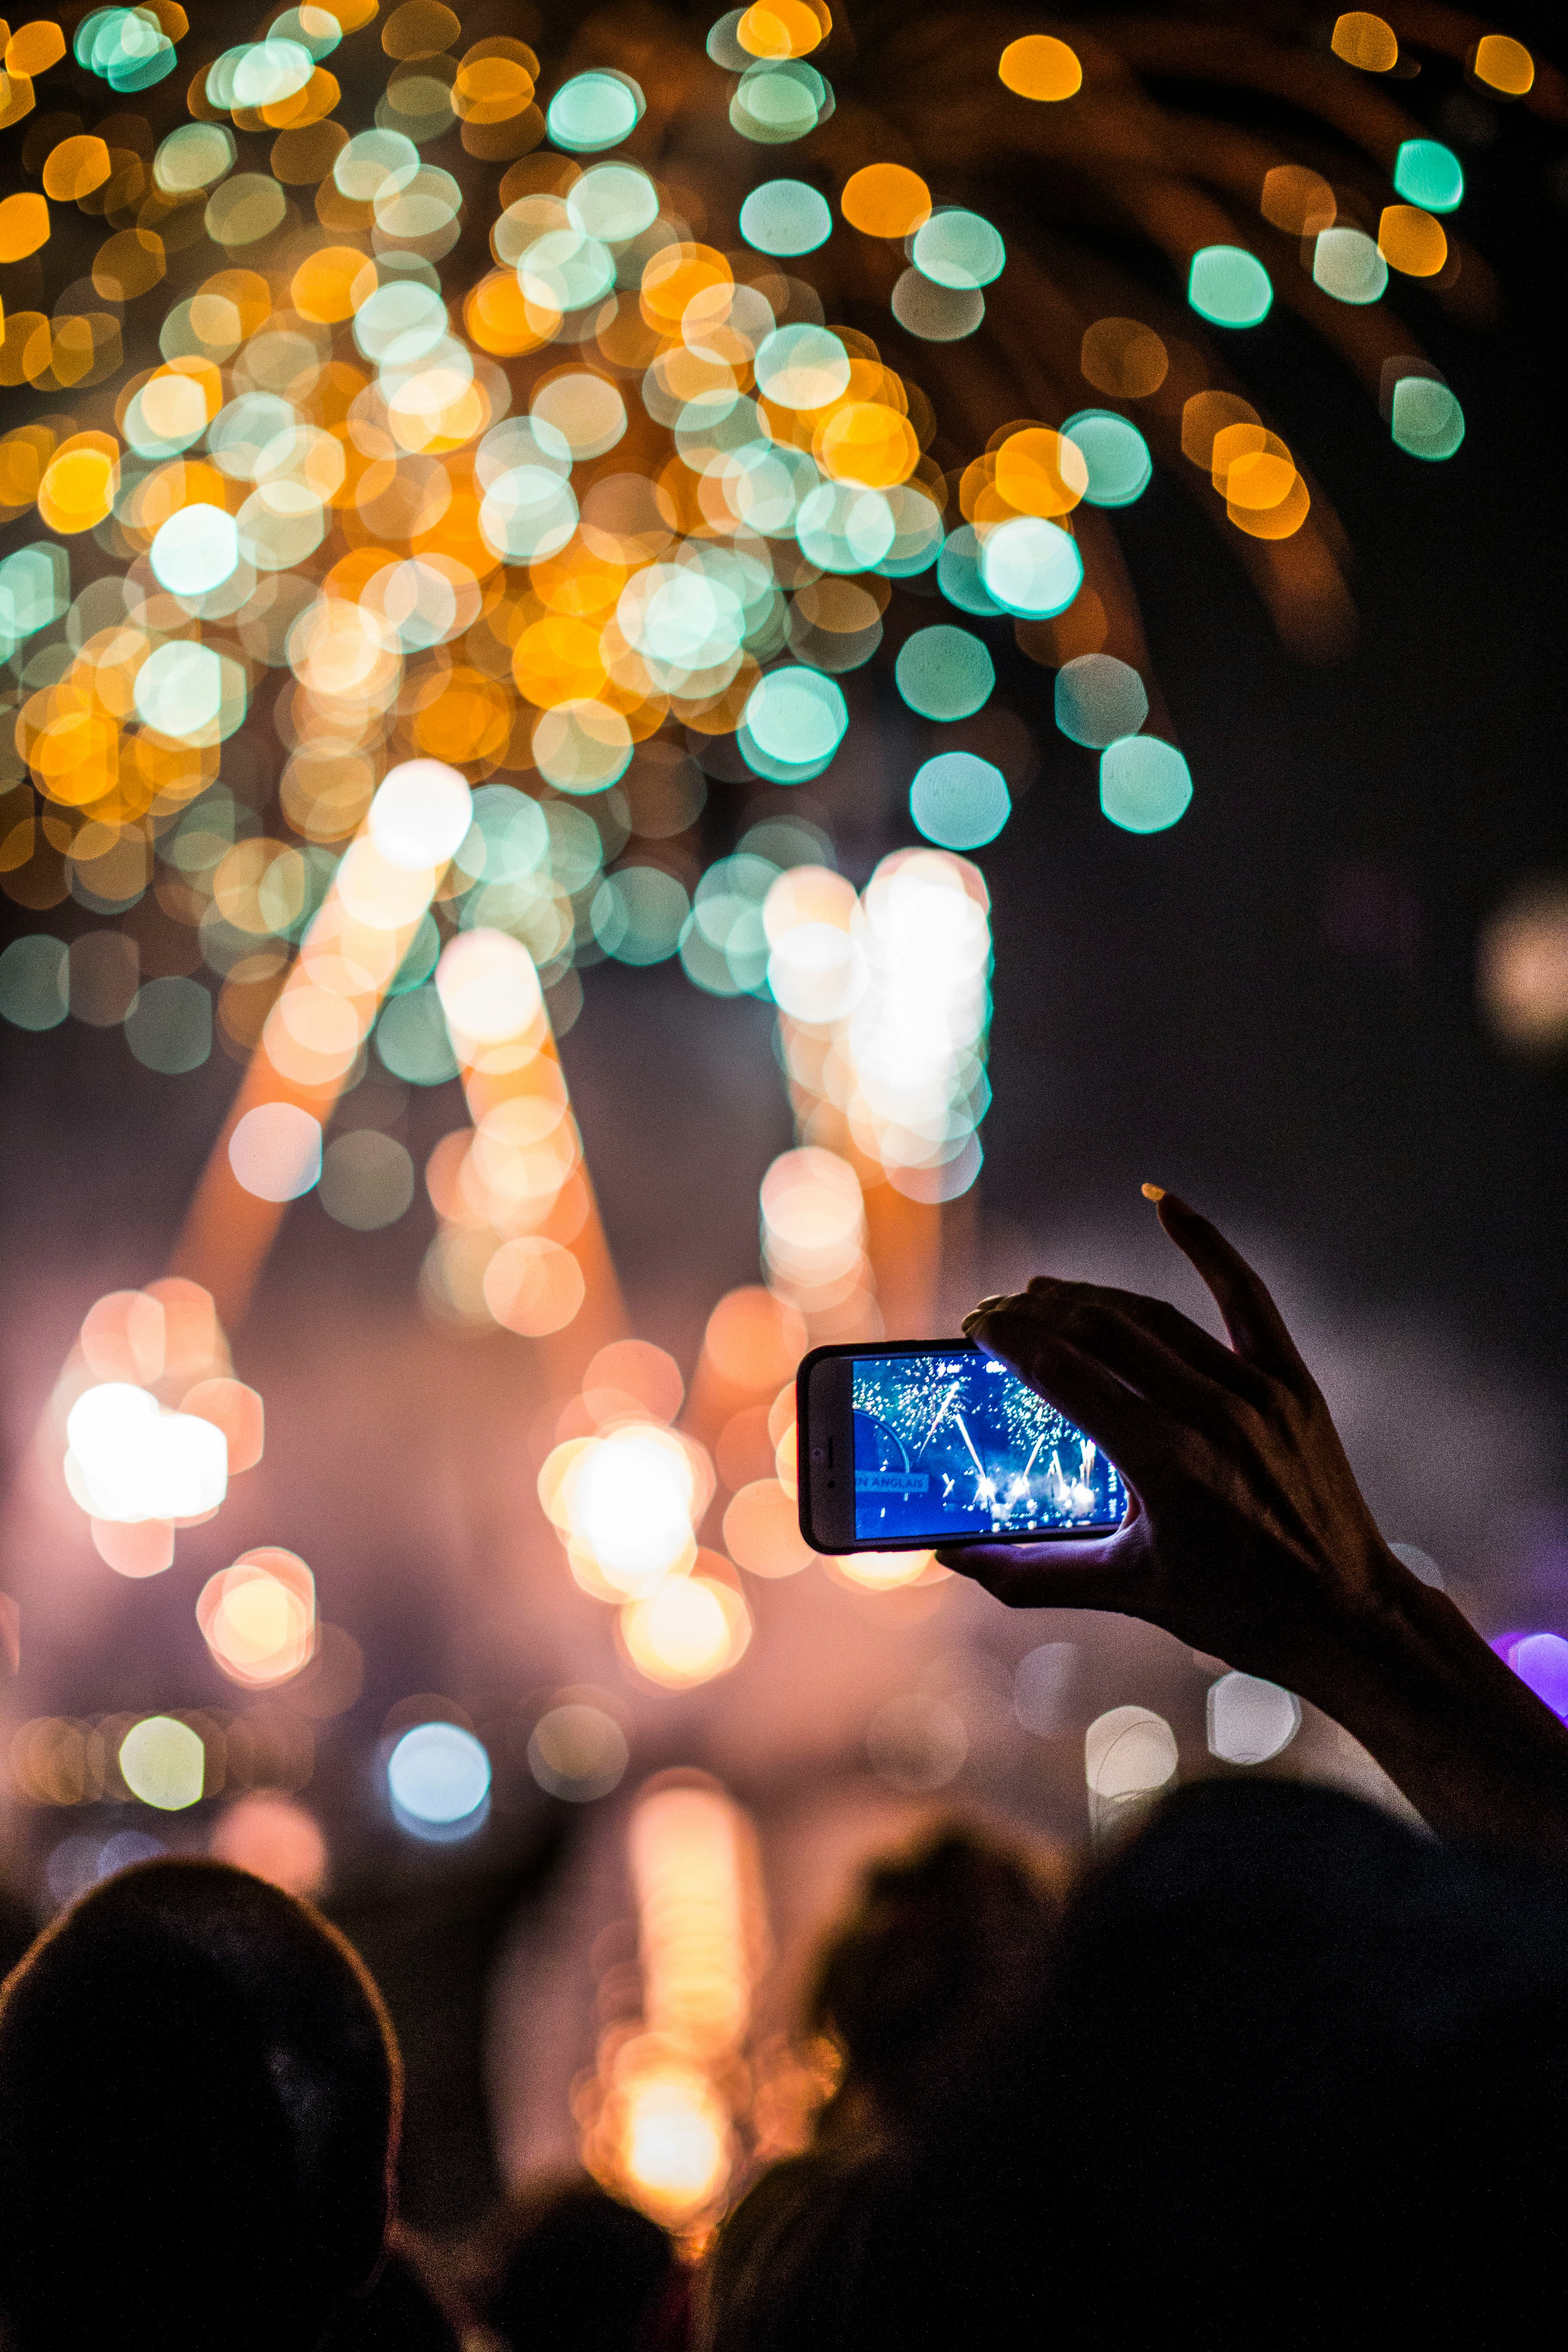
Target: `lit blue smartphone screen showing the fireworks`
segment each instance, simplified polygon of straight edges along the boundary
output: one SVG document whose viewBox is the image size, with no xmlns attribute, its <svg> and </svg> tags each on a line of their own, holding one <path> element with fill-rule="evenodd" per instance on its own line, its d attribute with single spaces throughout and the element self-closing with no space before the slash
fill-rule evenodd
<svg viewBox="0 0 1568 2352">
<path fill-rule="evenodd" d="M 860 1543 L 1121 1524 L 1117 1465 L 980 1348 L 856 1355 L 851 1409 Z"/>
</svg>

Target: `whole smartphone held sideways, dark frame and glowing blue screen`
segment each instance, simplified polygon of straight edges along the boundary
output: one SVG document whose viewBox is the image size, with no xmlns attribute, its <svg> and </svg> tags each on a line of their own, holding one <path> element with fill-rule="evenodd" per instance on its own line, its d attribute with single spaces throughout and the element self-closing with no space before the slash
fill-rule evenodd
<svg viewBox="0 0 1568 2352">
<path fill-rule="evenodd" d="M 816 1552 L 1041 1543 L 1126 1515 L 1093 1437 L 964 1338 L 813 1348 L 795 1397 L 799 1526 Z"/>
</svg>

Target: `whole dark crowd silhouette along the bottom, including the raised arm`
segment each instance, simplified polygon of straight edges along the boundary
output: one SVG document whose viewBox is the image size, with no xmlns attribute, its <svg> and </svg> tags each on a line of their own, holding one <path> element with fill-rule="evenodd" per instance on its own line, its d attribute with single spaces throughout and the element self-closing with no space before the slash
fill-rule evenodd
<svg viewBox="0 0 1568 2352">
<path fill-rule="evenodd" d="M 1469 2347 L 1561 2324 L 1568 1731 L 1389 1552 L 1265 1287 L 1157 1197 L 1229 1345 L 1086 1284 L 985 1301 L 973 1334 L 1114 1456 L 1133 1510 L 952 1566 L 1288 1684 L 1425 1828 L 1213 1780 L 1065 1882 L 936 1825 L 820 1955 L 802 2034 L 835 2082 L 809 2145 L 696 2265 L 578 2176 L 522 2183 L 435 2263 L 393 2211 L 402 2070 L 350 1943 L 228 1865 L 141 1863 L 0 1994 L 9 2352 Z"/>
</svg>

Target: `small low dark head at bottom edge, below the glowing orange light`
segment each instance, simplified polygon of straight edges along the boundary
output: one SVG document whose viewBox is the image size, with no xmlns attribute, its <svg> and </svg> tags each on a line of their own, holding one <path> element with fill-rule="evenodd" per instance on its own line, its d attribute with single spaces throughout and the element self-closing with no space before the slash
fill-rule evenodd
<svg viewBox="0 0 1568 2352">
<path fill-rule="evenodd" d="M 468 2300 L 517 2352 L 658 2352 L 684 2340 L 675 2246 L 585 2173 L 512 2190 L 480 2234 Z"/>
</svg>

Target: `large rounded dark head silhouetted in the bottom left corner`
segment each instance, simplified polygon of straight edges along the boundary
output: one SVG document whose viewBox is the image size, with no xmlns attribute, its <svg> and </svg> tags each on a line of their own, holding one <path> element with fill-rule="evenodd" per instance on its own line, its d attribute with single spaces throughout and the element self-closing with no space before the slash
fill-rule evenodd
<svg viewBox="0 0 1568 2352">
<path fill-rule="evenodd" d="M 0 1994 L 16 2352 L 292 2352 L 374 2272 L 400 2065 L 343 1938 L 223 1863 L 94 1889 Z"/>
</svg>

